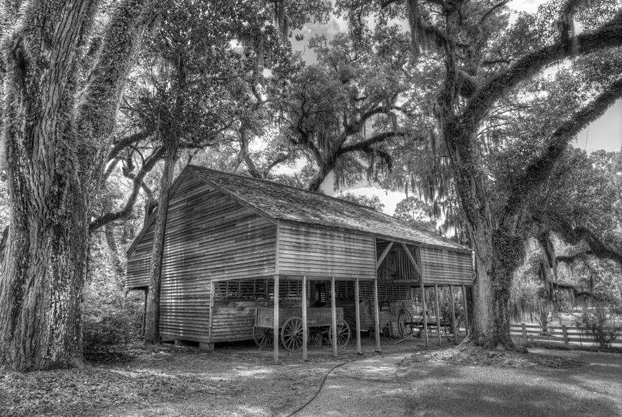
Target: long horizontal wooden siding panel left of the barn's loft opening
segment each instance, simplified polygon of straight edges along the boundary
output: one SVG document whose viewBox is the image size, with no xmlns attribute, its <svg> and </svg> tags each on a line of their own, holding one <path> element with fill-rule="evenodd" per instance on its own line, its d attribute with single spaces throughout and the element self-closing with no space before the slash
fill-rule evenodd
<svg viewBox="0 0 622 417">
<path fill-rule="evenodd" d="M 374 279 L 374 237 L 281 221 L 279 274 Z"/>
</svg>

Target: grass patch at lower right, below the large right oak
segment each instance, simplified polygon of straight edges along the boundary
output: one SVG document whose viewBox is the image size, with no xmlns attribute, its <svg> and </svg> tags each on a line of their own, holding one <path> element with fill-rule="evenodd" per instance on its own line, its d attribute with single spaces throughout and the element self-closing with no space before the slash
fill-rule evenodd
<svg viewBox="0 0 622 417">
<path fill-rule="evenodd" d="M 575 369 L 516 369 L 422 362 L 402 380 L 418 393 L 413 415 L 617 416 L 622 414 L 622 357 L 552 352 L 583 362 Z"/>
</svg>

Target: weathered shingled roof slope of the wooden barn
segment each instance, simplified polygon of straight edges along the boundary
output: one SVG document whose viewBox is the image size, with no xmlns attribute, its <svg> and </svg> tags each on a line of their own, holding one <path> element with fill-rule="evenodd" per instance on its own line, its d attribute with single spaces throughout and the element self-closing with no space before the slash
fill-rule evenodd
<svg viewBox="0 0 622 417">
<path fill-rule="evenodd" d="M 381 237 L 470 251 L 466 246 L 415 228 L 393 216 L 325 194 L 196 165 L 188 165 L 186 170 L 272 219 L 358 230 Z"/>
</svg>

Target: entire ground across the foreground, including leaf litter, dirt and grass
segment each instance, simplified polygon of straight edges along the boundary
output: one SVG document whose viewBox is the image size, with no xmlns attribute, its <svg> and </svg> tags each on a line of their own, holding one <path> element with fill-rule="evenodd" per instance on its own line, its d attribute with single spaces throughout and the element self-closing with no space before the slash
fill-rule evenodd
<svg viewBox="0 0 622 417">
<path fill-rule="evenodd" d="M 620 353 L 530 349 L 535 353 L 525 359 L 451 349 L 455 344 L 426 350 L 420 339 L 384 339 L 378 354 L 373 339 L 363 342 L 364 355 L 355 353 L 354 342 L 339 358 L 330 346 L 313 346 L 308 361 L 285 353 L 278 364 L 272 351 L 259 351 L 252 342 L 217 345 L 213 353 L 156 348 L 85 371 L 0 375 L 0 402 L 3 389 L 5 402 L 28 389 L 28 401 L 46 401 L 27 409 L 37 415 L 622 415 Z M 102 375 L 104 382 L 93 382 Z M 91 384 L 90 393 L 80 384 Z M 39 398 L 36 389 L 57 390 L 57 400 Z M 62 396 L 71 389 L 80 390 L 82 402 Z M 64 404 L 66 398 L 75 405 Z M 23 415 L 19 402 L 10 405 L 3 411 Z"/>
</svg>

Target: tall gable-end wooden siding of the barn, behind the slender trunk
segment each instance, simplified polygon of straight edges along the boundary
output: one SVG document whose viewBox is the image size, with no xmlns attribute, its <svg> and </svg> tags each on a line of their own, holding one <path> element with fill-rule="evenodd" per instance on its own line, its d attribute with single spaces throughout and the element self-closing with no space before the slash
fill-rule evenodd
<svg viewBox="0 0 622 417">
<path fill-rule="evenodd" d="M 149 284 L 152 240 L 147 230 L 131 253 L 129 288 Z M 169 202 L 160 335 L 211 342 L 211 281 L 273 275 L 275 242 L 274 223 L 193 176 L 182 180 Z"/>
</svg>

